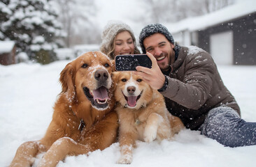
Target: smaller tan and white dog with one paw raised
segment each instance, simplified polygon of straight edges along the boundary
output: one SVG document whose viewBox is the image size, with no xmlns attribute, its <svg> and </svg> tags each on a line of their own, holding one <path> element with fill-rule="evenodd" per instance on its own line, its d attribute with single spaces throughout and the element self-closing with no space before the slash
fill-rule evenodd
<svg viewBox="0 0 256 167">
<path fill-rule="evenodd" d="M 184 127 L 171 116 L 164 97 L 132 72 L 113 72 L 115 111 L 119 118 L 121 157 L 118 164 L 131 164 L 135 141 L 171 140 Z"/>
</svg>

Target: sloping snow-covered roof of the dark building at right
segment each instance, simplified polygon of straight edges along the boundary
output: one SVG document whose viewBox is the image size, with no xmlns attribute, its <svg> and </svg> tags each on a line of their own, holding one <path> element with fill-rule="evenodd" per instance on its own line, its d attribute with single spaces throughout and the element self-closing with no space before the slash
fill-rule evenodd
<svg viewBox="0 0 256 167">
<path fill-rule="evenodd" d="M 256 1 L 249 0 L 243 3 L 234 3 L 231 6 L 216 10 L 213 13 L 202 15 L 199 17 L 190 17 L 183 19 L 180 22 L 166 24 L 167 29 L 171 33 L 178 33 L 180 31 L 197 31 L 204 30 L 208 27 L 228 22 L 229 20 L 250 15 L 256 12 Z"/>
</svg>

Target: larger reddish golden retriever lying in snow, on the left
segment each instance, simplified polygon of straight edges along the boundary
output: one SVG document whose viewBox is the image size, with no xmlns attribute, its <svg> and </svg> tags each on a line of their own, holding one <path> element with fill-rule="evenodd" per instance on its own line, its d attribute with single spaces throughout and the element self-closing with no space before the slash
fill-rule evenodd
<svg viewBox="0 0 256 167">
<path fill-rule="evenodd" d="M 67 64 L 60 74 L 62 92 L 45 136 L 20 145 L 10 166 L 31 166 L 41 152 L 45 154 L 38 166 L 56 166 L 66 155 L 104 150 L 114 143 L 118 115 L 113 111 L 112 70 L 111 60 L 100 51 Z"/>
</svg>

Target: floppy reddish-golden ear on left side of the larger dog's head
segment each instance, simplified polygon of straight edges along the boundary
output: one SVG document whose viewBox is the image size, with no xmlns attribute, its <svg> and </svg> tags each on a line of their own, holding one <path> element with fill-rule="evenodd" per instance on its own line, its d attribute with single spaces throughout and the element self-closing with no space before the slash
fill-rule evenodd
<svg viewBox="0 0 256 167">
<path fill-rule="evenodd" d="M 69 100 L 73 100 L 76 95 L 73 78 L 75 70 L 71 63 L 67 64 L 62 70 L 59 82 L 62 84 L 62 93 L 68 93 Z"/>
</svg>

